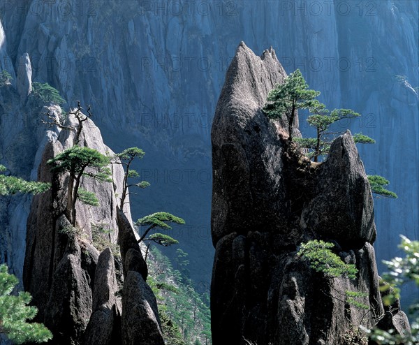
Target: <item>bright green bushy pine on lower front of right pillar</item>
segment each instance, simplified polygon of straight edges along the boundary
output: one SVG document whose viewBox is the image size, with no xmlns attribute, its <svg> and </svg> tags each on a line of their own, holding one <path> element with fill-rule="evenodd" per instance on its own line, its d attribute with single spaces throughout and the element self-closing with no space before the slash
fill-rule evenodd
<svg viewBox="0 0 419 345">
<path fill-rule="evenodd" d="M 355 279 L 358 272 L 355 265 L 344 263 L 330 250 L 333 247 L 335 244 L 313 240 L 302 243 L 297 254 L 309 260 L 310 267 L 316 272 L 323 272 L 326 277 L 347 276 L 349 279 Z"/>
</svg>

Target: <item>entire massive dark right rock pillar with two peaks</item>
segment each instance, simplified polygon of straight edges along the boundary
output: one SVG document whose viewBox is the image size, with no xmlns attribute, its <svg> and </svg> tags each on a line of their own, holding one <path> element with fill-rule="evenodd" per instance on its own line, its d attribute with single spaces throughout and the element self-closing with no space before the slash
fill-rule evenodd
<svg viewBox="0 0 419 345">
<path fill-rule="evenodd" d="M 349 131 L 321 164 L 285 139 L 263 114 L 268 91 L 286 73 L 273 50 L 244 43 L 228 68 L 212 126 L 213 343 L 344 344 L 384 309 L 372 243 L 372 193 Z M 285 135 L 284 135 L 285 134 Z M 335 243 L 356 279 L 326 279 L 297 256 L 302 242 Z M 345 291 L 367 293 L 369 313 Z M 399 309 L 397 317 L 406 320 Z"/>
</svg>

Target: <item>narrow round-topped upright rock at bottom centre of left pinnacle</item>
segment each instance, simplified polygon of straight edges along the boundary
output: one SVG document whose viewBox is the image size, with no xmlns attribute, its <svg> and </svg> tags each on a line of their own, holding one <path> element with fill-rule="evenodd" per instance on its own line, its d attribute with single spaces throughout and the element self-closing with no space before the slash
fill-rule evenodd
<svg viewBox="0 0 419 345">
<path fill-rule="evenodd" d="M 115 263 L 109 248 L 102 251 L 96 266 L 92 314 L 84 335 L 84 344 L 115 344 L 119 332 L 121 300 L 115 277 Z"/>
</svg>

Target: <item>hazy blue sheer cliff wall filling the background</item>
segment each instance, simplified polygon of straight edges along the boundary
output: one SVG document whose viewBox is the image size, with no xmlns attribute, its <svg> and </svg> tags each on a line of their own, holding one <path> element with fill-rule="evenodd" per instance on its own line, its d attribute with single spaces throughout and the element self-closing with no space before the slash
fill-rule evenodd
<svg viewBox="0 0 419 345">
<path fill-rule="evenodd" d="M 136 168 L 152 186 L 131 196 L 133 217 L 165 210 L 186 220 L 172 236 L 205 291 L 214 252 L 210 127 L 240 41 L 257 54 L 272 45 L 287 73 L 300 68 L 328 107 L 363 114 L 341 129 L 375 138 L 359 147 L 367 173 L 390 179 L 399 195 L 375 203 L 378 262 L 399 253 L 399 234 L 419 237 L 418 16 L 415 0 L 1 0 L 0 69 L 17 86 L 48 82 L 69 105 L 91 104 L 115 152 L 145 150 Z M 24 97 L 19 105 L 6 98 L 0 163 L 34 178 L 45 127 L 40 115 L 28 118 Z M 304 115 L 300 126 L 309 133 Z M 18 276 L 29 205 L 29 196 L 0 201 L 0 260 Z"/>
</svg>

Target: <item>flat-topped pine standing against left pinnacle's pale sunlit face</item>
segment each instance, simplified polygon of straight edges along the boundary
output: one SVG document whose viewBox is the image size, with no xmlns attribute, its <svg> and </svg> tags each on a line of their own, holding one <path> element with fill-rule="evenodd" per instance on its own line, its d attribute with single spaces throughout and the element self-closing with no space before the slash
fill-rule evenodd
<svg viewBox="0 0 419 345">
<path fill-rule="evenodd" d="M 89 147 L 73 146 L 58 154 L 48 162 L 52 166 L 51 171 L 70 175 L 67 189 L 66 216 L 71 225 L 75 226 L 75 202 L 87 201 L 89 205 L 97 203 L 92 194 L 80 191 L 82 177 L 90 177 L 101 182 L 112 182 L 110 179 L 109 158 L 96 149 Z"/>
</svg>

